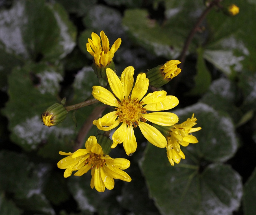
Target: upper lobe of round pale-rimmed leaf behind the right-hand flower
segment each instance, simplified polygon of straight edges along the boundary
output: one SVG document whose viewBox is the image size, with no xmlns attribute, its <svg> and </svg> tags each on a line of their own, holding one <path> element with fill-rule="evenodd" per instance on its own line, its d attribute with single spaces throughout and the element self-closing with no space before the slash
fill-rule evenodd
<svg viewBox="0 0 256 215">
<path fill-rule="evenodd" d="M 197 118 L 194 127 L 201 127 L 193 133 L 199 143 L 189 144 L 186 149 L 197 159 L 210 162 L 225 162 L 237 151 L 238 142 L 235 127 L 231 118 L 220 115 L 212 107 L 204 103 L 173 111 L 179 117 L 179 123 L 190 118 L 194 113 Z M 181 150 L 185 149 L 182 147 Z"/>
</svg>

